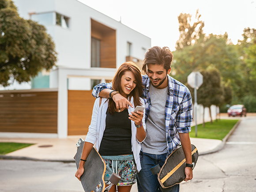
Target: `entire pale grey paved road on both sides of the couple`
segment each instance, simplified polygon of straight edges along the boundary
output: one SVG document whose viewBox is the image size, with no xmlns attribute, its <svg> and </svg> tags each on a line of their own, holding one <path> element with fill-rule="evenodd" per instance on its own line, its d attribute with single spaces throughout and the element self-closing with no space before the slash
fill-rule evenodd
<svg viewBox="0 0 256 192">
<path fill-rule="evenodd" d="M 256 117 L 242 119 L 222 151 L 199 156 L 181 192 L 256 192 Z M 75 171 L 75 163 L 0 160 L 0 192 L 83 192 Z"/>
</svg>

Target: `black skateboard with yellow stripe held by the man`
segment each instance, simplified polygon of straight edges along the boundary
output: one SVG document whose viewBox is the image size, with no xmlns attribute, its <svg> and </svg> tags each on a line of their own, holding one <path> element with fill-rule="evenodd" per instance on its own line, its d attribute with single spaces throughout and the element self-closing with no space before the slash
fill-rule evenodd
<svg viewBox="0 0 256 192">
<path fill-rule="evenodd" d="M 192 162 L 196 166 L 198 159 L 198 151 L 196 146 L 191 145 L 192 149 Z M 170 188 L 175 184 L 179 184 L 186 178 L 185 175 L 185 165 L 186 159 L 182 147 L 177 148 L 170 154 L 160 168 L 159 165 L 156 165 L 151 168 L 153 174 L 158 174 L 158 181 L 163 189 Z"/>
</svg>

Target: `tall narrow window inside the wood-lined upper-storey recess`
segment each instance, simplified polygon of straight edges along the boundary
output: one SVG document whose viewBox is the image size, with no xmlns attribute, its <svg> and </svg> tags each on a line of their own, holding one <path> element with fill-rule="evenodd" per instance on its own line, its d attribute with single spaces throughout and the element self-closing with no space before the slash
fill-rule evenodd
<svg viewBox="0 0 256 192">
<path fill-rule="evenodd" d="M 101 41 L 96 38 L 91 38 L 91 63 L 92 68 L 99 68 L 100 65 L 100 44 Z"/>
</svg>

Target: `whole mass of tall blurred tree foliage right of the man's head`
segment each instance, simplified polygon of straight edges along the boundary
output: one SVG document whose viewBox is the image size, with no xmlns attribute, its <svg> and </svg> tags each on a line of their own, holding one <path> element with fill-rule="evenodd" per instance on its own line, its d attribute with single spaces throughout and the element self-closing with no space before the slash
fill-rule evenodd
<svg viewBox="0 0 256 192">
<path fill-rule="evenodd" d="M 180 38 L 176 51 L 173 52 L 171 75 L 187 84 L 187 77 L 192 71 L 205 73 L 209 66 L 213 66 L 221 75 L 223 99 L 213 101 L 208 97 L 201 98 L 204 106 L 209 107 L 210 103 L 218 106 L 244 104 L 248 111 L 256 112 L 256 29 L 245 28 L 243 39 L 233 45 L 227 33 L 204 34 L 204 23 L 200 21 L 200 16 L 197 11 L 197 19 L 193 25 L 190 14 L 181 13 L 178 17 Z M 209 78 L 205 75 L 207 74 L 203 75 L 204 82 Z M 199 90 L 205 96 L 210 91 L 203 90 L 202 87 Z M 227 108 L 221 109 L 226 112 Z"/>
</svg>

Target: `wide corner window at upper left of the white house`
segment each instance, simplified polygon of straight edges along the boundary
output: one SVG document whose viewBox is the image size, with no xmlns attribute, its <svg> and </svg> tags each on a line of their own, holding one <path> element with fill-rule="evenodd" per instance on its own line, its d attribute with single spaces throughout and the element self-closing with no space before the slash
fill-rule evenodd
<svg viewBox="0 0 256 192">
<path fill-rule="evenodd" d="M 69 28 L 69 18 L 56 12 L 30 14 L 30 19 L 41 25 L 59 25 Z"/>
</svg>

